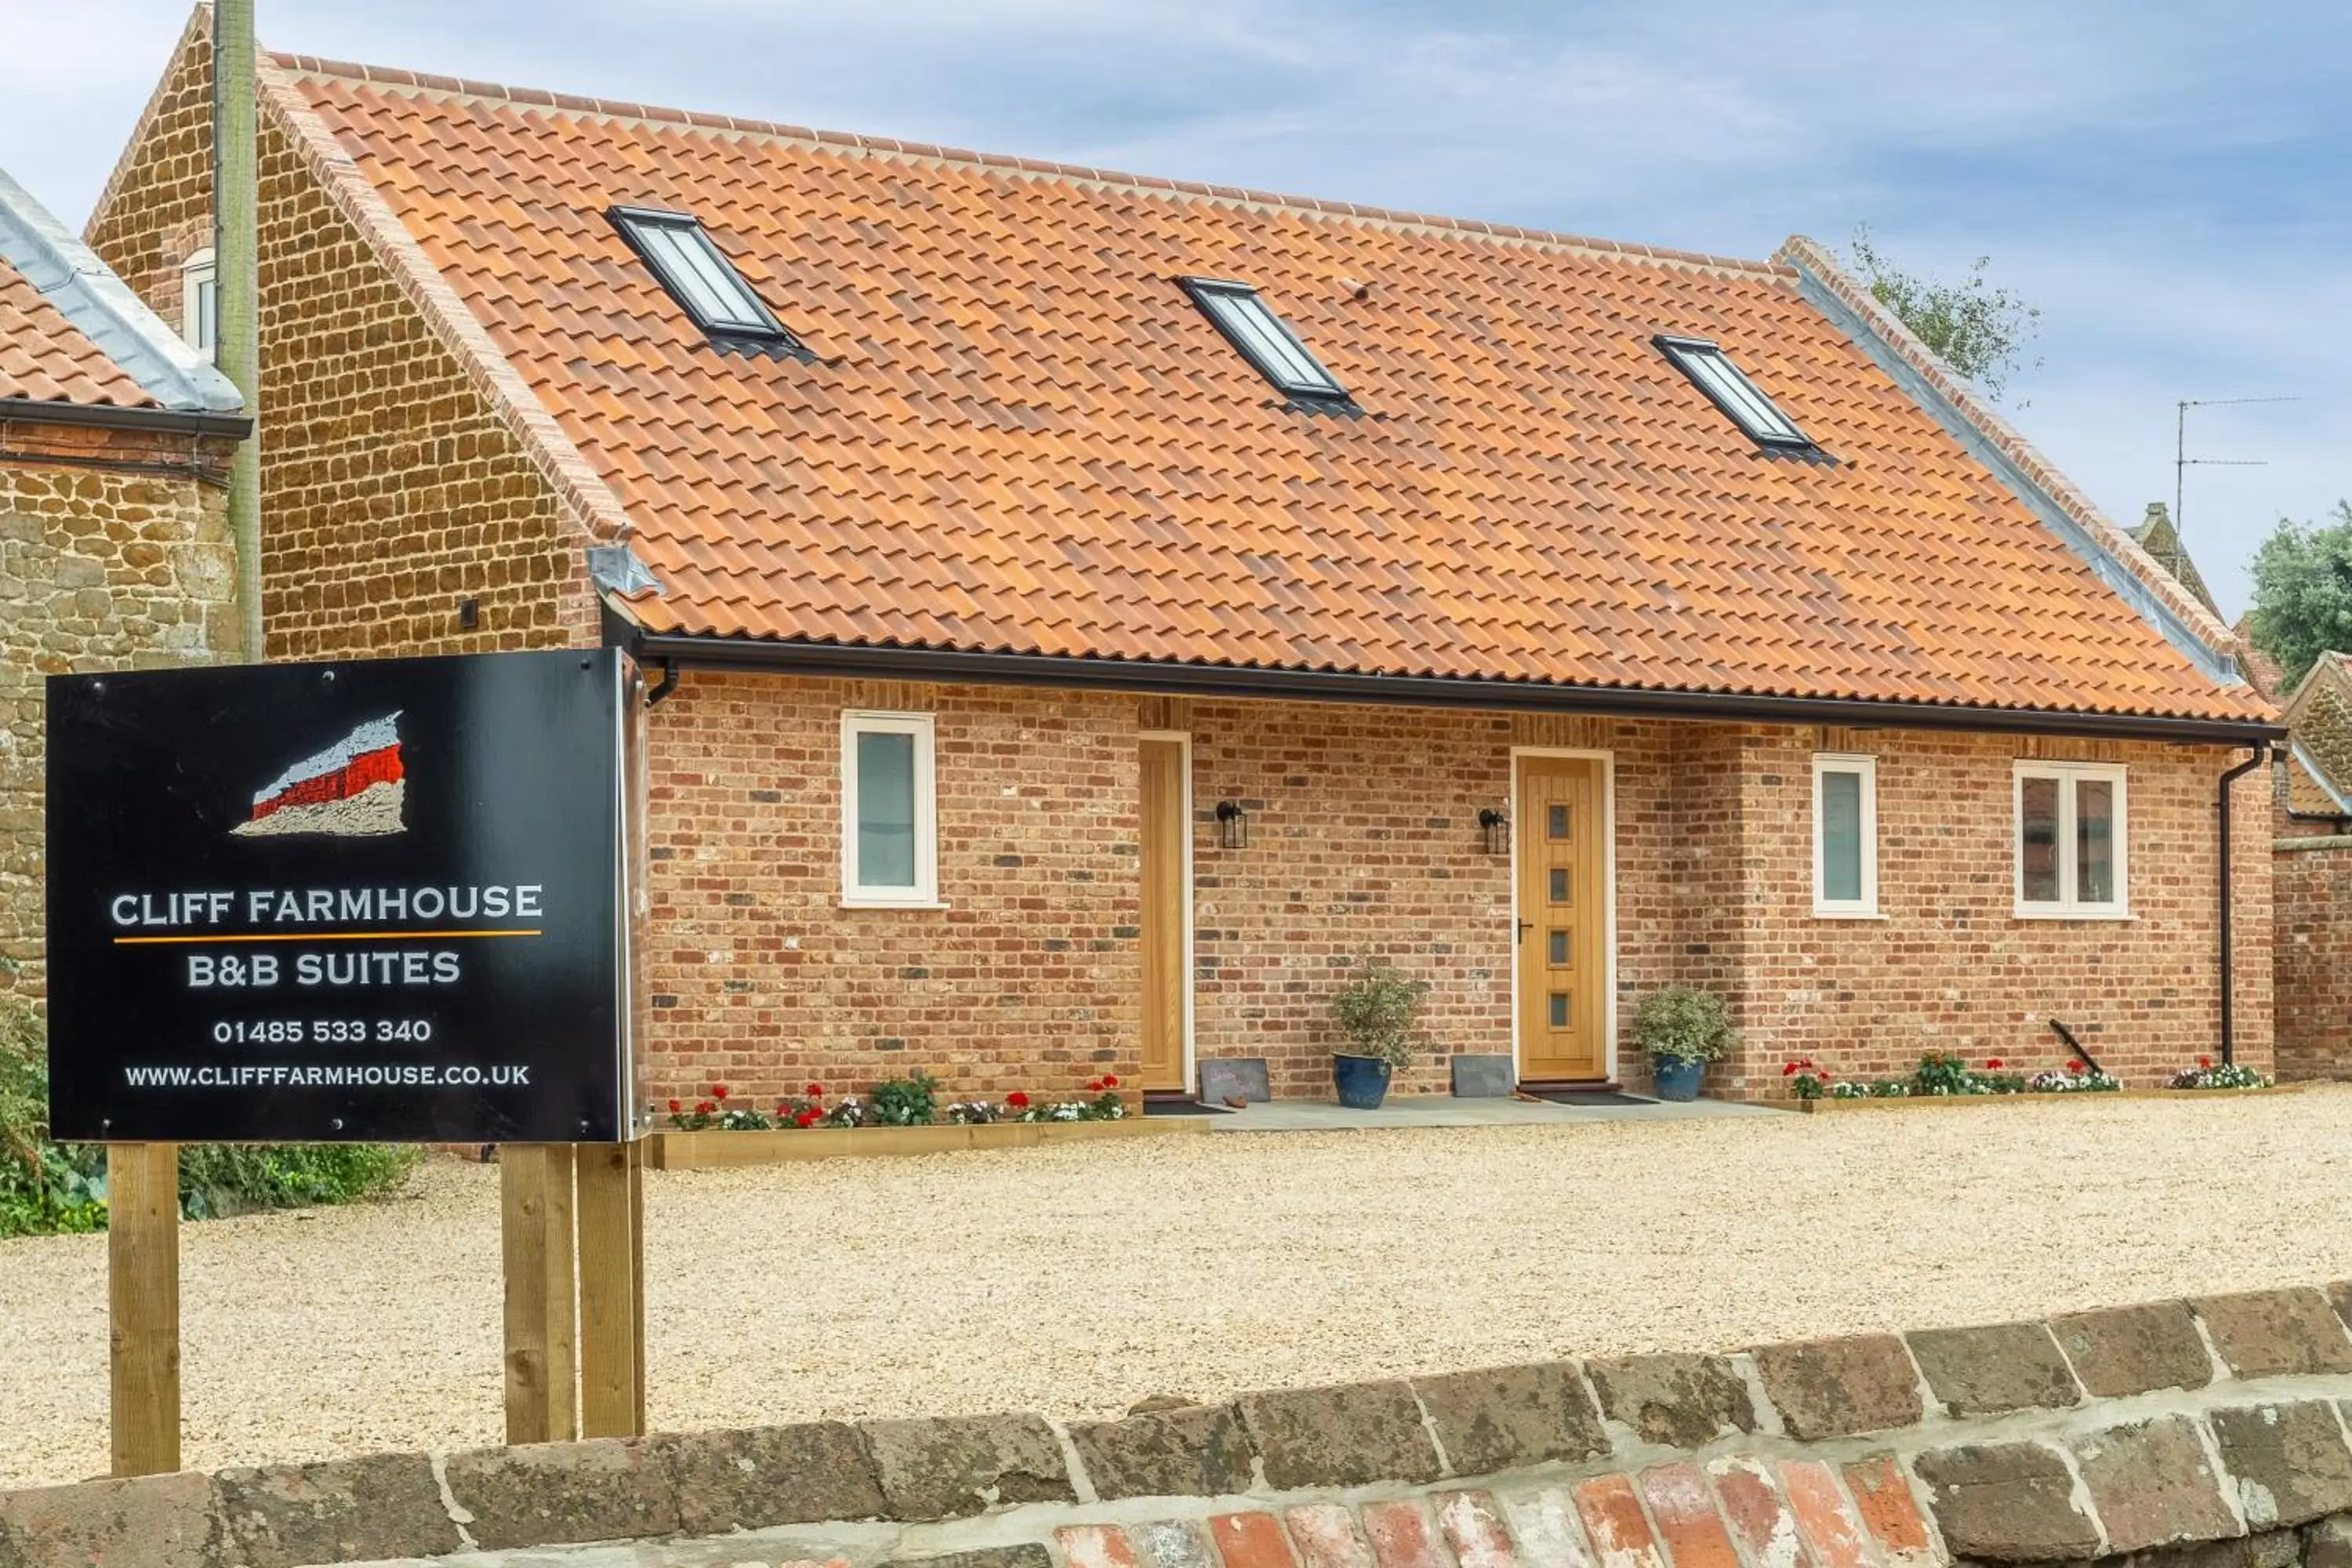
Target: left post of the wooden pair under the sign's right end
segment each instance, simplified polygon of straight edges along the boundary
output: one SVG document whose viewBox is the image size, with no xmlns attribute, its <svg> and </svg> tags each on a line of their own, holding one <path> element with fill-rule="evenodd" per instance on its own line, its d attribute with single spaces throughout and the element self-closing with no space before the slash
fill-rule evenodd
<svg viewBox="0 0 2352 1568">
<path fill-rule="evenodd" d="M 569 1143 L 499 1145 L 506 1260 L 506 1441 L 579 1436 Z"/>
</svg>

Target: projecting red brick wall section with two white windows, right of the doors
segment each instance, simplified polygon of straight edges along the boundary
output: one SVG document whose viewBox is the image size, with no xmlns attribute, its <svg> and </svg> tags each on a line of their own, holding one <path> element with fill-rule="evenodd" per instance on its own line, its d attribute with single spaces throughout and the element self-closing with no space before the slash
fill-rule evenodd
<svg viewBox="0 0 2352 1568">
<path fill-rule="evenodd" d="M 1811 752 L 1879 757 L 1884 922 L 1811 914 Z M 2011 917 L 2011 762 L 2129 766 L 2129 922 Z M 1896 1074 L 1922 1051 L 2053 1067 L 2065 1020 L 2129 1084 L 2220 1041 L 2213 790 L 2244 752 L 1903 731 L 1740 731 L 1748 1095 L 1790 1056 Z M 2270 1065 L 2270 785 L 2234 785 L 2239 1060 Z M 1726 1079 L 1731 1074 L 1724 1074 Z M 1731 1084 L 1722 1084 L 1731 1088 Z"/>
</svg>

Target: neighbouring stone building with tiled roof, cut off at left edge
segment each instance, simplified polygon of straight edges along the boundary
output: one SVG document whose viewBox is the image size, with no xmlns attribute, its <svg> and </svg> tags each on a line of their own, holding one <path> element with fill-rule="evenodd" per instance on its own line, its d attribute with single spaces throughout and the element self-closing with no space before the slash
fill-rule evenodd
<svg viewBox="0 0 2352 1568">
<path fill-rule="evenodd" d="M 240 402 L 0 174 L 0 992 L 42 994 L 42 677 L 238 654 Z"/>
</svg>

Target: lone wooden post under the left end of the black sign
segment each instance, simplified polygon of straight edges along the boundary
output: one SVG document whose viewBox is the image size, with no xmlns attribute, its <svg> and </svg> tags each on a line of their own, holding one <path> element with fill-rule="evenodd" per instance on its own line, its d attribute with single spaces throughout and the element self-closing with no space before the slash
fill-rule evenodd
<svg viewBox="0 0 2352 1568">
<path fill-rule="evenodd" d="M 179 1469 L 179 1145 L 106 1145 L 113 1469 Z"/>
</svg>

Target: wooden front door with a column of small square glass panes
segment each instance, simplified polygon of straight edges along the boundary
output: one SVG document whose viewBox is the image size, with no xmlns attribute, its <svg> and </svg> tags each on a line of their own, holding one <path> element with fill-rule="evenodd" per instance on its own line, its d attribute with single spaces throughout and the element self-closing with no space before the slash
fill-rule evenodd
<svg viewBox="0 0 2352 1568">
<path fill-rule="evenodd" d="M 1519 759 L 1524 1081 L 1609 1077 L 1606 811 L 1599 759 Z"/>
</svg>

